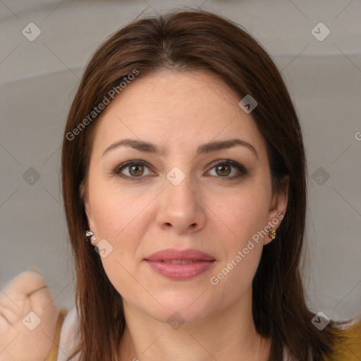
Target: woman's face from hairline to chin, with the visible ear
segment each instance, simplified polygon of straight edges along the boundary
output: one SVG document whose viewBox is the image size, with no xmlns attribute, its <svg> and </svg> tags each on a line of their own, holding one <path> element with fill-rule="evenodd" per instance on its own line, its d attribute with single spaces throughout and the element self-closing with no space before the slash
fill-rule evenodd
<svg viewBox="0 0 361 361">
<path fill-rule="evenodd" d="M 208 71 L 161 71 L 134 80 L 102 114 L 85 209 L 125 307 L 196 322 L 249 305 L 267 225 L 279 226 L 287 200 L 271 192 L 266 143 L 239 102 Z M 121 140 L 137 144 L 111 147 Z M 169 248 L 214 260 L 149 260 Z"/>
</svg>

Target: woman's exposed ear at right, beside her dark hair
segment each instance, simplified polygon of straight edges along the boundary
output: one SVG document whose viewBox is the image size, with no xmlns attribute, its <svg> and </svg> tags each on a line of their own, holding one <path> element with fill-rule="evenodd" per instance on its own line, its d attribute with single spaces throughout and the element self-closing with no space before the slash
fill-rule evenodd
<svg viewBox="0 0 361 361">
<path fill-rule="evenodd" d="M 281 221 L 286 214 L 290 176 L 284 176 L 281 183 L 282 190 L 280 192 L 274 192 L 271 197 L 271 202 L 269 204 L 268 224 L 273 226 L 275 229 L 279 228 Z M 267 237 L 264 240 L 264 245 L 267 245 L 267 243 L 269 242 L 271 242 L 271 238 Z"/>
</svg>

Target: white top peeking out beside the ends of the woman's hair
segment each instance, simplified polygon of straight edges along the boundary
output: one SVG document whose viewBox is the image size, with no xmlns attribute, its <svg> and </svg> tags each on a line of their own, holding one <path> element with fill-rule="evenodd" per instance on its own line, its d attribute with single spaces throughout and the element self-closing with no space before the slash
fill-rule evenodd
<svg viewBox="0 0 361 361">
<path fill-rule="evenodd" d="M 61 328 L 59 353 L 56 361 L 67 361 L 68 357 L 73 353 L 75 346 L 78 344 L 78 319 L 76 308 L 73 307 L 66 318 L 64 319 L 63 326 Z M 78 361 L 79 356 L 75 355 L 72 361 Z M 312 355 L 310 355 L 310 361 L 312 361 Z M 286 348 L 283 350 L 283 361 L 297 361 L 294 357 L 288 354 Z"/>
</svg>

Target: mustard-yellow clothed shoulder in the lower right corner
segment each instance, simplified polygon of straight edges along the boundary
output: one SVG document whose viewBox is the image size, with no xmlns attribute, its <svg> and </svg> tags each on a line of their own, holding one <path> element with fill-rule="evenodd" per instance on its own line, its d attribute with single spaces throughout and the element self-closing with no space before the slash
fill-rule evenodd
<svg viewBox="0 0 361 361">
<path fill-rule="evenodd" d="M 359 361 L 361 360 L 361 319 L 348 322 L 336 322 L 339 337 L 334 345 L 334 352 L 325 361 Z"/>
</svg>

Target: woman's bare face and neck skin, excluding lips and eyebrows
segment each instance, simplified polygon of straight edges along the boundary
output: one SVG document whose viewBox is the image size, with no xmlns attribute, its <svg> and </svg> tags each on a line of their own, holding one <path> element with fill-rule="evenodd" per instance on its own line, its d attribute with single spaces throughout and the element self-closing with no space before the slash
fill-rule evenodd
<svg viewBox="0 0 361 361">
<path fill-rule="evenodd" d="M 287 196 L 271 190 L 266 142 L 238 102 L 214 73 L 164 70 L 134 80 L 102 114 L 85 210 L 96 233 L 92 244 L 106 239 L 113 247 L 102 264 L 123 297 L 121 360 L 268 360 L 270 339 L 257 334 L 252 319 L 252 279 L 271 238 L 260 238 L 224 279 L 210 283 L 252 235 L 286 212 Z M 196 154 L 203 143 L 235 137 L 257 156 L 245 146 Z M 125 138 L 153 142 L 166 154 L 122 146 L 102 156 Z M 112 173 L 132 159 L 148 166 L 121 172 L 140 179 Z M 226 162 L 216 171 L 214 162 L 222 159 L 242 164 L 247 173 Z M 175 166 L 185 175 L 179 185 L 166 178 Z M 216 262 L 194 279 L 173 281 L 143 261 L 168 247 L 202 250 Z M 173 312 L 183 317 L 178 329 L 167 322 Z"/>
</svg>

